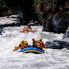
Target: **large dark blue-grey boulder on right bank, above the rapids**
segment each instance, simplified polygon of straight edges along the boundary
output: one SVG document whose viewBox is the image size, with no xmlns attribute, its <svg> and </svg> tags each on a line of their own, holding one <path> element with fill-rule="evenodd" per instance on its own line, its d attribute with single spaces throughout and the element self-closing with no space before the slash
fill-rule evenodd
<svg viewBox="0 0 69 69">
<path fill-rule="evenodd" d="M 55 33 L 65 33 L 68 28 L 68 19 L 63 19 L 58 13 L 52 18 L 53 31 Z"/>
</svg>

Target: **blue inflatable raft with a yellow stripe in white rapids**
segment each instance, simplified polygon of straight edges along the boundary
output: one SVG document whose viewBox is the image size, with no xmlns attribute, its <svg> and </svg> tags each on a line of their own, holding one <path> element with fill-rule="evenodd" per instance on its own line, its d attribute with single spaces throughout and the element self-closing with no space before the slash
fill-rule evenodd
<svg viewBox="0 0 69 69">
<path fill-rule="evenodd" d="M 45 53 L 45 51 L 43 49 L 36 48 L 36 47 L 27 47 L 25 49 L 21 49 L 19 52 L 23 52 L 23 53 L 36 53 L 36 54 Z"/>
</svg>

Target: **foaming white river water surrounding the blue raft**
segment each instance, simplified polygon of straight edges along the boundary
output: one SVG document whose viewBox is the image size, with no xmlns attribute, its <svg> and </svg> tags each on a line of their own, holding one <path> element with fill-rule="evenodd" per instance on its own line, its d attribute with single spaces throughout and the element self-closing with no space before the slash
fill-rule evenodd
<svg viewBox="0 0 69 69">
<path fill-rule="evenodd" d="M 42 38 L 44 42 L 53 40 L 62 40 L 63 34 L 47 34 L 43 37 L 40 34 L 41 29 L 36 27 L 39 32 L 23 34 L 20 33 L 22 27 L 5 28 L 4 33 L 0 35 L 0 69 L 69 69 L 69 50 L 47 49 L 47 53 L 19 53 L 13 52 L 21 40 L 27 40 L 32 44 L 32 38 Z"/>
</svg>

